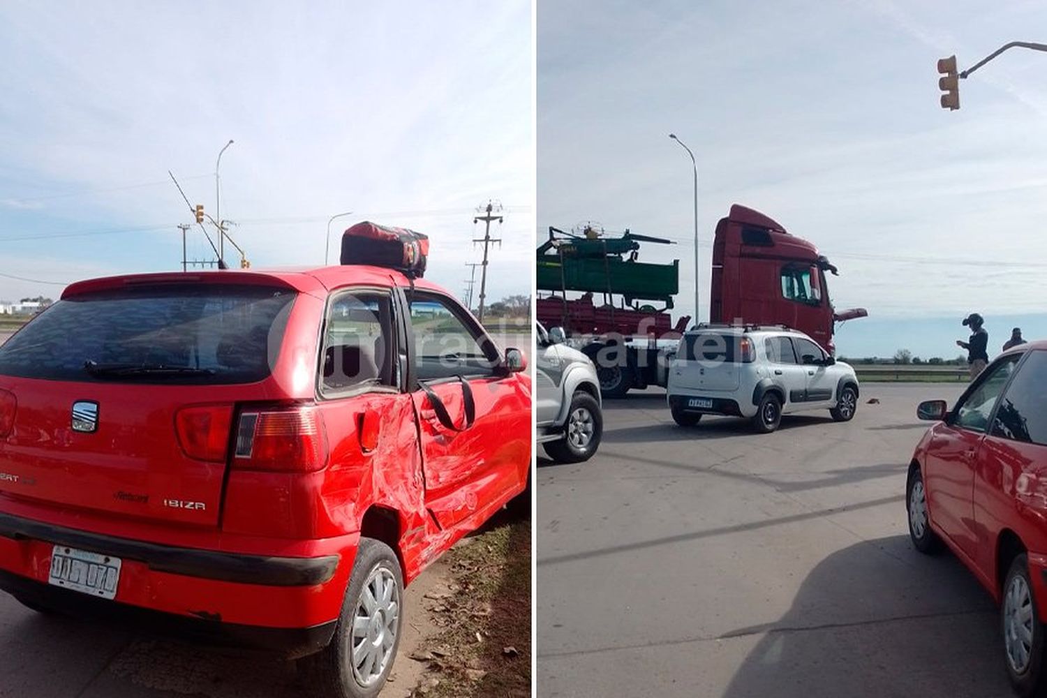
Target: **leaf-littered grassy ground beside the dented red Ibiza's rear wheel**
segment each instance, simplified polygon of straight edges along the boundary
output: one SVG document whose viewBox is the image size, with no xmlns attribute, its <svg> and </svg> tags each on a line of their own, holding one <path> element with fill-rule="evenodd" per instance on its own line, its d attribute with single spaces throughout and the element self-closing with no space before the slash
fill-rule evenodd
<svg viewBox="0 0 1047 698">
<path fill-rule="evenodd" d="M 531 521 L 510 519 L 496 516 L 447 554 L 459 591 L 441 601 L 448 623 L 425 645 L 439 659 L 414 695 L 531 695 Z"/>
</svg>

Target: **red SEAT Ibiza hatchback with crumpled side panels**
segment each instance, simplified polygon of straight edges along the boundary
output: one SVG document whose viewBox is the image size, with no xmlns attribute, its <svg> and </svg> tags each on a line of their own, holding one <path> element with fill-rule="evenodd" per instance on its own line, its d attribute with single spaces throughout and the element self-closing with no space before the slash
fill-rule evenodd
<svg viewBox="0 0 1047 698">
<path fill-rule="evenodd" d="M 525 491 L 525 364 L 389 268 L 74 284 L 0 346 L 0 588 L 373 696 L 405 584 Z"/>
</svg>

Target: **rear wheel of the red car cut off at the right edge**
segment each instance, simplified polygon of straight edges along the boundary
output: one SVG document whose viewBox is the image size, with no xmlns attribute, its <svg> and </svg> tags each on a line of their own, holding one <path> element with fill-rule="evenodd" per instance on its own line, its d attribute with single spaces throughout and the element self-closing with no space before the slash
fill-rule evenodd
<svg viewBox="0 0 1047 698">
<path fill-rule="evenodd" d="M 1000 632 L 1003 657 L 1015 692 L 1022 698 L 1043 696 L 1045 686 L 1044 625 L 1029 580 L 1029 560 L 1022 553 L 1007 570 L 1000 600 Z"/>
</svg>

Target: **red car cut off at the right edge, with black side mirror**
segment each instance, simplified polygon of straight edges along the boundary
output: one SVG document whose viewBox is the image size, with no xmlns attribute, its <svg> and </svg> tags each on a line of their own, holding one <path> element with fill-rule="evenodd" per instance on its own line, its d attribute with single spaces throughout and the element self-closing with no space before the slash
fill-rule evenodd
<svg viewBox="0 0 1047 698">
<path fill-rule="evenodd" d="M 936 420 L 909 469 L 909 533 L 917 549 L 942 541 L 1000 603 L 1011 683 L 1047 693 L 1047 342 L 997 358 Z"/>
</svg>

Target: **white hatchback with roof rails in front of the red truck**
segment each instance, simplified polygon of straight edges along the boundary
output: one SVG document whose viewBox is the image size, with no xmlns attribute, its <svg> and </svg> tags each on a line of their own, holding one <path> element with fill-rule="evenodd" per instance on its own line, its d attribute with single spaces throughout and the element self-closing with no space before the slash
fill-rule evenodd
<svg viewBox="0 0 1047 698">
<path fill-rule="evenodd" d="M 778 428 L 782 414 L 828 409 L 846 422 L 857 409 L 857 376 L 810 337 L 783 327 L 699 324 L 680 340 L 669 367 L 669 409 L 681 426 L 703 414 Z"/>
</svg>

